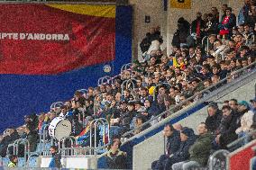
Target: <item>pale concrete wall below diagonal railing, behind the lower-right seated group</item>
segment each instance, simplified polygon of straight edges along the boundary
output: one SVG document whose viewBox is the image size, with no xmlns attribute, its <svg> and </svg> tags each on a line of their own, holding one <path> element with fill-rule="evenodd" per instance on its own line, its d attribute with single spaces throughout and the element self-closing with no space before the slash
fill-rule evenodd
<svg viewBox="0 0 256 170">
<path fill-rule="evenodd" d="M 250 101 L 255 96 L 256 79 L 251 77 L 251 81 L 241 87 L 217 98 L 216 102 L 223 102 L 228 99 L 238 99 L 239 101 Z M 220 105 L 221 106 L 221 105 Z M 187 119 L 179 121 L 182 126 L 192 128 L 197 131 L 197 124 L 206 121 L 206 107 L 199 110 L 196 114 L 192 114 Z M 163 153 L 164 139 L 162 133 L 158 133 L 149 139 L 145 139 L 142 143 L 133 147 L 133 169 L 149 169 L 151 163 L 157 160 Z"/>
</svg>

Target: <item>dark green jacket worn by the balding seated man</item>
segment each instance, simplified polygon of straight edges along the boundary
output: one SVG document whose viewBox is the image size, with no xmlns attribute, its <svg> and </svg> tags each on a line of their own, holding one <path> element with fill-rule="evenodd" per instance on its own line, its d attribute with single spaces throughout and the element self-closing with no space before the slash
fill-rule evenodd
<svg viewBox="0 0 256 170">
<path fill-rule="evenodd" d="M 198 136 L 194 145 L 189 148 L 189 160 L 196 161 L 201 166 L 206 166 L 214 136 L 211 133 Z"/>
</svg>

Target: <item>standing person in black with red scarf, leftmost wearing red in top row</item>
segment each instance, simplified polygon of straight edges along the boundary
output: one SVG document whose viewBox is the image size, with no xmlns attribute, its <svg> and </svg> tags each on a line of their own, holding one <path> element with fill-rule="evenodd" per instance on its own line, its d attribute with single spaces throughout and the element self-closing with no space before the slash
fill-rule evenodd
<svg viewBox="0 0 256 170">
<path fill-rule="evenodd" d="M 191 23 L 191 32 L 196 33 L 197 43 L 204 37 L 205 22 L 202 20 L 202 13 L 197 12 L 197 19 Z"/>
</svg>

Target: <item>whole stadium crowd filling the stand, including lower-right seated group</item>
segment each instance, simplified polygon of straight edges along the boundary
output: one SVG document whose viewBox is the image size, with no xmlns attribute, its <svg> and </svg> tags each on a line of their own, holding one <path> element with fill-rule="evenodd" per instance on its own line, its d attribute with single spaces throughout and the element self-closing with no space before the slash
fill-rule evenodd
<svg viewBox="0 0 256 170">
<path fill-rule="evenodd" d="M 222 13 L 216 7 L 210 13 L 197 13 L 197 19 L 191 24 L 181 17 L 169 56 L 160 49 L 163 42 L 160 28 L 152 28 L 141 43 L 142 62 L 133 62 L 131 68 L 123 70 L 108 83 L 88 87 L 87 93 L 77 91 L 60 108 L 25 116 L 24 126 L 5 130 L 0 137 L 0 156 L 5 157 L 8 145 L 20 138 L 28 139 L 31 151 L 35 151 L 41 127 L 56 117 L 69 119 L 72 122 L 71 135 L 78 139 L 89 122 L 96 118 L 109 121 L 113 136 L 122 136 L 130 130 L 133 131 L 126 137 L 140 133 L 155 121 L 168 117 L 171 112 L 142 126 L 145 121 L 179 103 L 182 105 L 175 111 L 187 107 L 204 96 L 199 94 L 202 90 L 215 85 L 208 88 L 212 92 L 233 81 L 241 75 L 235 71 L 255 62 L 255 17 L 255 3 L 249 0 L 245 0 L 238 15 L 238 25 L 232 8 L 226 4 L 222 6 Z M 248 67 L 243 72 L 254 68 Z M 226 77 L 228 79 L 219 84 Z M 126 80 L 131 81 L 125 84 Z M 187 101 L 193 95 L 197 97 Z M 238 103 L 235 99 L 224 103 L 221 110 L 216 104 L 209 105 L 206 122 L 198 125 L 198 137 L 189 128 L 175 130 L 172 125 L 167 125 L 164 133 L 171 147 L 167 147 L 167 153 L 154 162 L 152 168 L 206 166 L 211 149 L 226 148 L 228 143 L 251 130 L 251 125 L 256 122 L 255 112 L 255 99 L 251 100 L 251 107 L 249 103 Z M 120 141 L 114 140 L 110 149 L 117 154 L 111 152 L 107 156 L 125 157 L 118 150 L 119 145 Z M 112 163 L 111 167 L 123 166 Z"/>
</svg>

